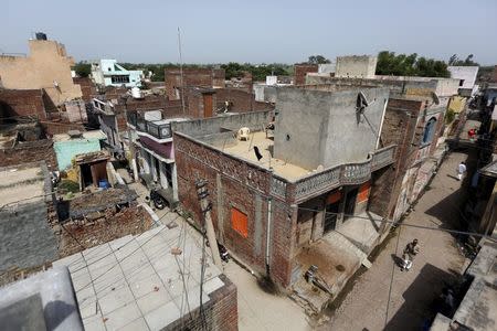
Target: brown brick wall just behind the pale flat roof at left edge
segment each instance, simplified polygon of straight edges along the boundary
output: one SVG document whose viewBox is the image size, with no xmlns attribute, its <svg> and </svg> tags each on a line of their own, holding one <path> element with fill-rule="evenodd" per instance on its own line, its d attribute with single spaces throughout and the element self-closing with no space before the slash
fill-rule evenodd
<svg viewBox="0 0 497 331">
<path fill-rule="evenodd" d="M 57 169 L 52 140 L 20 142 L 14 148 L 0 150 L 0 167 L 39 161 L 45 161 L 52 170 Z"/>
</svg>

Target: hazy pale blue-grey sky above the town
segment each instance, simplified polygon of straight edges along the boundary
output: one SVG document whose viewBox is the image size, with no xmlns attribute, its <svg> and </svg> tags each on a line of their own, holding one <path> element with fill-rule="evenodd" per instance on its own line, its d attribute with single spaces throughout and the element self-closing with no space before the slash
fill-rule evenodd
<svg viewBox="0 0 497 331">
<path fill-rule="evenodd" d="M 497 63 L 496 0 L 0 1 L 0 53 L 27 53 L 27 40 L 43 31 L 76 61 L 178 62 L 180 26 L 186 63 L 381 50 Z"/>
</svg>

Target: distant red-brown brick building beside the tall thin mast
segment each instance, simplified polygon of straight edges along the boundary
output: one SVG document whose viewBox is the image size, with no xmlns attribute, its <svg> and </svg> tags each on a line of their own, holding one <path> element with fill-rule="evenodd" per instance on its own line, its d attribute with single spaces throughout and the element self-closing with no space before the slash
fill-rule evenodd
<svg viewBox="0 0 497 331">
<path fill-rule="evenodd" d="M 183 68 L 182 86 L 224 87 L 224 70 L 207 67 Z M 177 68 L 165 71 L 166 95 L 170 100 L 179 99 L 177 88 L 181 88 L 181 73 Z"/>
</svg>

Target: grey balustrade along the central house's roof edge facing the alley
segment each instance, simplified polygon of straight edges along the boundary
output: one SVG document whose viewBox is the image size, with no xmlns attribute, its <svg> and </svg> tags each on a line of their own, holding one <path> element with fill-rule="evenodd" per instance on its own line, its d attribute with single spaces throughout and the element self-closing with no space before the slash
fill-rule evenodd
<svg viewBox="0 0 497 331">
<path fill-rule="evenodd" d="M 372 171 L 392 163 L 394 152 L 395 146 L 389 146 L 378 150 L 364 162 L 340 164 L 302 178 L 295 182 L 295 202 L 302 202 L 341 185 L 361 184 L 371 178 Z M 275 178 L 273 178 L 274 181 Z M 274 191 L 272 185 L 272 193 Z"/>
</svg>

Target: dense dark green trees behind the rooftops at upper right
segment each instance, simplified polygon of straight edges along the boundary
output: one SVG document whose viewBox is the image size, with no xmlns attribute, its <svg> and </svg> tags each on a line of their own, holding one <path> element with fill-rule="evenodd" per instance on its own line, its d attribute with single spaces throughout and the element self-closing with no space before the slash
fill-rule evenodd
<svg viewBox="0 0 497 331">
<path fill-rule="evenodd" d="M 382 51 L 378 54 L 377 75 L 450 77 L 451 73 L 441 60 Z"/>
</svg>

